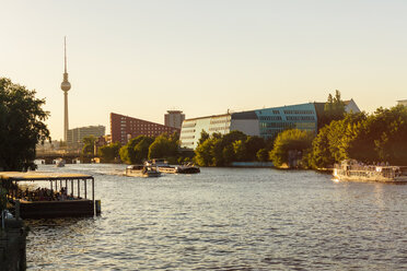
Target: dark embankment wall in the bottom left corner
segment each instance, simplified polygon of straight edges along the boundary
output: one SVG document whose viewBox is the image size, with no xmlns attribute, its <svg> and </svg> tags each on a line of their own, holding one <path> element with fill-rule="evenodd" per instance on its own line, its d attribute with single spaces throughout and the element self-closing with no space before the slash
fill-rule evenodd
<svg viewBox="0 0 407 271">
<path fill-rule="evenodd" d="M 5 220 L 4 224 L 0 226 L 0 271 L 26 270 L 27 229 L 22 220 Z"/>
</svg>

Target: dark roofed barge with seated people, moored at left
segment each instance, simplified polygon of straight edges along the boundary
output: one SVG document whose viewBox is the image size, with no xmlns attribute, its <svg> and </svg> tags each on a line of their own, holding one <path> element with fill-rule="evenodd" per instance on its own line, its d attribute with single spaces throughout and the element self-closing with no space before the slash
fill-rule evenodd
<svg viewBox="0 0 407 271">
<path fill-rule="evenodd" d="M 94 216 L 101 213 L 101 201 L 95 200 L 94 178 L 91 175 L 0 172 L 0 181 L 8 191 L 16 217 L 54 219 Z M 38 181 L 48 182 L 48 187 L 22 190 L 24 182 Z"/>
</svg>

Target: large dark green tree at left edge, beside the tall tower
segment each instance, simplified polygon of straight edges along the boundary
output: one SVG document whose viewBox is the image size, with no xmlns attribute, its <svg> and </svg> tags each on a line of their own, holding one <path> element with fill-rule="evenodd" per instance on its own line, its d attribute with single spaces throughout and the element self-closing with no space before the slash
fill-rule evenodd
<svg viewBox="0 0 407 271">
<path fill-rule="evenodd" d="M 0 169 L 34 168 L 35 146 L 50 140 L 44 121 L 49 113 L 35 91 L 0 78 Z"/>
</svg>

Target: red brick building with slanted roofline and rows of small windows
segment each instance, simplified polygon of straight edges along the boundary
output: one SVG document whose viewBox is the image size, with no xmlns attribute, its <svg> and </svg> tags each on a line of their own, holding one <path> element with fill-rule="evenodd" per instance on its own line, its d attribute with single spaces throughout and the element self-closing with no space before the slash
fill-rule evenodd
<svg viewBox="0 0 407 271">
<path fill-rule="evenodd" d="M 138 136 L 156 137 L 164 132 L 168 134 L 179 133 L 181 129 L 111 113 L 112 142 L 127 144 L 130 139 Z"/>
</svg>

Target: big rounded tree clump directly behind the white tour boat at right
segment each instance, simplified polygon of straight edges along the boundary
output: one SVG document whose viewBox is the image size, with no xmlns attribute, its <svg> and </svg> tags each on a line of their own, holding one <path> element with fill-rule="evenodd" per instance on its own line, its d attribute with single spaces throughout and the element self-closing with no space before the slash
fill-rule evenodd
<svg viewBox="0 0 407 271">
<path fill-rule="evenodd" d="M 332 121 L 319 130 L 304 161 L 321 168 L 346 158 L 407 165 L 407 107 L 380 107 Z"/>
</svg>

